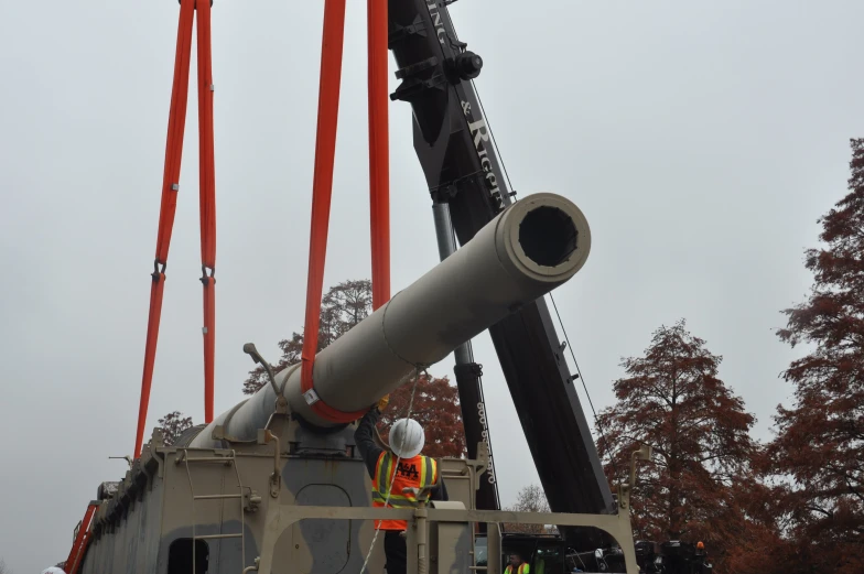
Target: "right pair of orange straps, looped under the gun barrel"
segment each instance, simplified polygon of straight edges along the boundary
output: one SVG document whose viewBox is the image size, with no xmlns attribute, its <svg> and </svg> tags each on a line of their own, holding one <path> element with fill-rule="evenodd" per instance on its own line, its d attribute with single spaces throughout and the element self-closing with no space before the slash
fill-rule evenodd
<svg viewBox="0 0 864 574">
<path fill-rule="evenodd" d="M 390 299 L 390 165 L 387 131 L 388 24 L 387 0 L 367 0 L 367 2 L 372 308 L 377 310 Z M 325 0 L 315 173 L 312 184 L 306 317 L 301 355 L 301 389 L 306 401 L 318 415 L 330 421 L 347 423 L 363 416 L 365 411 L 342 412 L 326 404 L 314 392 L 312 380 L 318 344 L 321 297 L 324 290 L 324 261 L 327 254 L 327 227 L 333 191 L 333 163 L 336 151 L 344 32 L 345 0 Z"/>
</svg>

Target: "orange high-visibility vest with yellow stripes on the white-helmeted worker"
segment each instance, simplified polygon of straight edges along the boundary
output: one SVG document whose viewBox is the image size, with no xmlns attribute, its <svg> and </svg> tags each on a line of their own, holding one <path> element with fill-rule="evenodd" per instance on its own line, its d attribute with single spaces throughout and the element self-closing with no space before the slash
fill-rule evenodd
<svg viewBox="0 0 864 574">
<path fill-rule="evenodd" d="M 395 454 L 386 451 L 378 456 L 372 478 L 372 506 L 384 508 L 387 494 L 390 492 L 388 508 L 417 508 L 419 502 L 414 495 L 402 492 L 402 489 L 434 485 L 438 481 L 438 462 L 429 456 L 417 455 L 412 458 L 400 459 L 399 467 L 396 468 L 396 458 Z M 429 496 L 426 496 L 426 500 L 429 500 Z M 408 522 L 404 520 L 377 520 L 375 528 L 406 530 Z"/>
</svg>

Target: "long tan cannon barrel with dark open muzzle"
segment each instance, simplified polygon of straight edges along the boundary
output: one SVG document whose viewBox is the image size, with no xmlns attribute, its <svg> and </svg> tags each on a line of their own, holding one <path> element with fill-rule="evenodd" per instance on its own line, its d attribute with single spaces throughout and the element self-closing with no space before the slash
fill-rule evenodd
<svg viewBox="0 0 864 574">
<path fill-rule="evenodd" d="M 569 199 L 541 193 L 506 208 L 462 249 L 363 320 L 315 358 L 314 390 L 325 404 L 360 411 L 520 306 L 549 293 L 585 263 L 591 232 Z M 300 368 L 277 376 L 292 413 L 320 429 L 338 423 L 318 414 L 301 391 Z M 212 427 L 255 438 L 273 413 L 264 386 L 218 416 L 192 442 L 210 444 Z"/>
</svg>

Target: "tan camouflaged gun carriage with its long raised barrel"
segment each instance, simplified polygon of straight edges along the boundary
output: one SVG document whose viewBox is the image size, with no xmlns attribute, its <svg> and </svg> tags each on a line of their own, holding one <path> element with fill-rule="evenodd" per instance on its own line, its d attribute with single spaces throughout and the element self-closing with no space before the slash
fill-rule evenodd
<svg viewBox="0 0 864 574">
<path fill-rule="evenodd" d="M 542 219 L 538 221 L 537 219 Z M 532 225 L 525 225 L 527 221 Z M 538 225 L 539 224 L 539 225 Z M 525 230 L 534 236 L 528 238 Z M 557 246 L 560 238 L 579 242 Z M 339 424 L 315 410 L 368 409 L 418 369 L 569 280 L 587 256 L 588 228 L 568 199 L 538 194 L 514 204 L 465 247 L 318 354 L 315 387 L 303 392 L 300 369 L 164 446 L 159 431 L 126 478 L 99 488 L 85 574 L 381 574 L 382 539 L 374 519 L 403 519 L 411 573 L 503 572 L 501 522 L 593 526 L 616 538 L 627 571 L 636 562 L 627 490 L 617 515 L 542 515 L 476 510 L 475 492 L 488 466 L 442 461 L 447 502 L 417 509 L 371 508 L 371 485 L 354 444 L 356 423 Z M 540 266 L 523 245 L 570 249 Z M 453 293 L 460 296 L 453 296 Z M 466 294 L 467 293 L 467 294 Z M 488 562 L 475 563 L 479 527 Z"/>
</svg>

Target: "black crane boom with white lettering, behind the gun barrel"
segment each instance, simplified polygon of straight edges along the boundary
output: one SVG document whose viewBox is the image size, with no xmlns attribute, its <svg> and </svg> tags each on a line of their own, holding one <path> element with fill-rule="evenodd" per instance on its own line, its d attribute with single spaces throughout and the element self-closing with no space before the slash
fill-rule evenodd
<svg viewBox="0 0 864 574">
<path fill-rule="evenodd" d="M 434 204 L 449 204 L 465 245 L 512 202 L 473 79 L 483 61 L 460 42 L 442 0 L 389 0 L 390 50 L 401 84 L 390 96 L 413 110 L 414 149 Z M 573 377 L 546 301 L 489 329 L 550 507 L 558 512 L 615 510 Z M 466 432 L 478 429 L 477 377 L 456 369 Z M 462 375 L 462 376 L 461 376 Z M 474 433 L 478 431 L 472 431 Z M 476 444 L 479 436 L 466 436 Z M 480 497 L 478 497 L 480 505 Z"/>
</svg>

